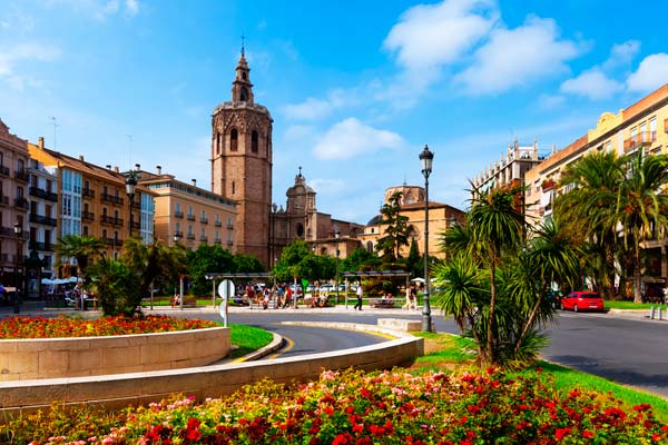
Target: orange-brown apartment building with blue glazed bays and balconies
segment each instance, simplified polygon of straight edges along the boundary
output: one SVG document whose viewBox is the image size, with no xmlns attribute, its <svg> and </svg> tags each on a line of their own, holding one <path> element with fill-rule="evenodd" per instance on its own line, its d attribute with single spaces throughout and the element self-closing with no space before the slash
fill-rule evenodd
<svg viewBox="0 0 668 445">
<path fill-rule="evenodd" d="M 65 235 L 100 238 L 107 246 L 108 258 L 118 257 L 124 241 L 131 236 L 153 241 L 156 194 L 139 184 L 130 202 L 126 191 L 129 172 L 87 162 L 84 156 L 73 158 L 50 150 L 45 147 L 43 138 L 39 138 L 38 145 L 28 144 L 28 151 L 57 178 L 59 238 Z"/>
</svg>

